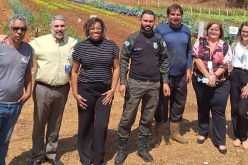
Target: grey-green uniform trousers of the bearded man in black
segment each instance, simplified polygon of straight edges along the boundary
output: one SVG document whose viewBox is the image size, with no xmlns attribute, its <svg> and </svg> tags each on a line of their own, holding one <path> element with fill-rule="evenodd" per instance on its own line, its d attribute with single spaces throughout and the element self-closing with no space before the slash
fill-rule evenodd
<svg viewBox="0 0 248 165">
<path fill-rule="evenodd" d="M 118 126 L 118 136 L 120 138 L 128 139 L 130 137 L 131 127 L 135 122 L 141 100 L 138 138 L 148 138 L 151 135 L 152 120 L 158 105 L 159 88 L 159 81 L 128 79 L 123 113 Z"/>
</svg>

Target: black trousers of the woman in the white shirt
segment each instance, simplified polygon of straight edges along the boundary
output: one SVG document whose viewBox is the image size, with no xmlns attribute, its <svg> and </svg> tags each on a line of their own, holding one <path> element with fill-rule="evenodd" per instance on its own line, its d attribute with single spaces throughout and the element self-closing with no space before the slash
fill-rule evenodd
<svg viewBox="0 0 248 165">
<path fill-rule="evenodd" d="M 248 133 L 248 98 L 241 99 L 241 90 L 248 82 L 248 71 L 233 69 L 231 82 L 231 117 L 235 138 L 245 141 Z"/>
</svg>

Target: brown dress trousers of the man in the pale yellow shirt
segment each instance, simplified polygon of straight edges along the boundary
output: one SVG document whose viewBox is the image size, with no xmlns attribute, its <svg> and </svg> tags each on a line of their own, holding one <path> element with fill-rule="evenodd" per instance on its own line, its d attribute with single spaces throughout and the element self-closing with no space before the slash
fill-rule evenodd
<svg viewBox="0 0 248 165">
<path fill-rule="evenodd" d="M 43 161 L 45 157 L 56 159 L 59 130 L 69 90 L 69 83 L 59 88 L 34 84 L 33 160 Z"/>
</svg>

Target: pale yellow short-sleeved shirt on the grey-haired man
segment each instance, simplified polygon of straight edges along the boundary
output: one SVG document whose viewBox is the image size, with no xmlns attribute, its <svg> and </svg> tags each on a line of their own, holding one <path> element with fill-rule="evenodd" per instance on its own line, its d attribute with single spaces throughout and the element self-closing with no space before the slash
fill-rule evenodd
<svg viewBox="0 0 248 165">
<path fill-rule="evenodd" d="M 37 67 L 34 74 L 36 81 L 49 85 L 64 85 L 69 82 L 65 66 L 71 65 L 72 50 L 77 40 L 65 36 L 58 43 L 52 34 L 35 38 L 30 42 L 34 51 Z"/>
</svg>

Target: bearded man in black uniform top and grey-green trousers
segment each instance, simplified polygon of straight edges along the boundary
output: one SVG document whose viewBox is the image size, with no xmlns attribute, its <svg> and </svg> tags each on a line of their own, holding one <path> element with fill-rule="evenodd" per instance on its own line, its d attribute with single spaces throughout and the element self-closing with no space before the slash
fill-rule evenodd
<svg viewBox="0 0 248 165">
<path fill-rule="evenodd" d="M 141 100 L 138 155 L 146 162 L 153 160 L 147 144 L 159 100 L 160 76 L 163 79 L 164 95 L 170 95 L 167 48 L 162 37 L 153 32 L 154 24 L 154 13 L 151 10 L 144 10 L 141 15 L 141 29 L 131 34 L 122 48 L 120 93 L 125 98 L 125 103 L 118 127 L 118 151 L 115 164 L 122 164 L 127 157 L 126 144 Z"/>
</svg>

